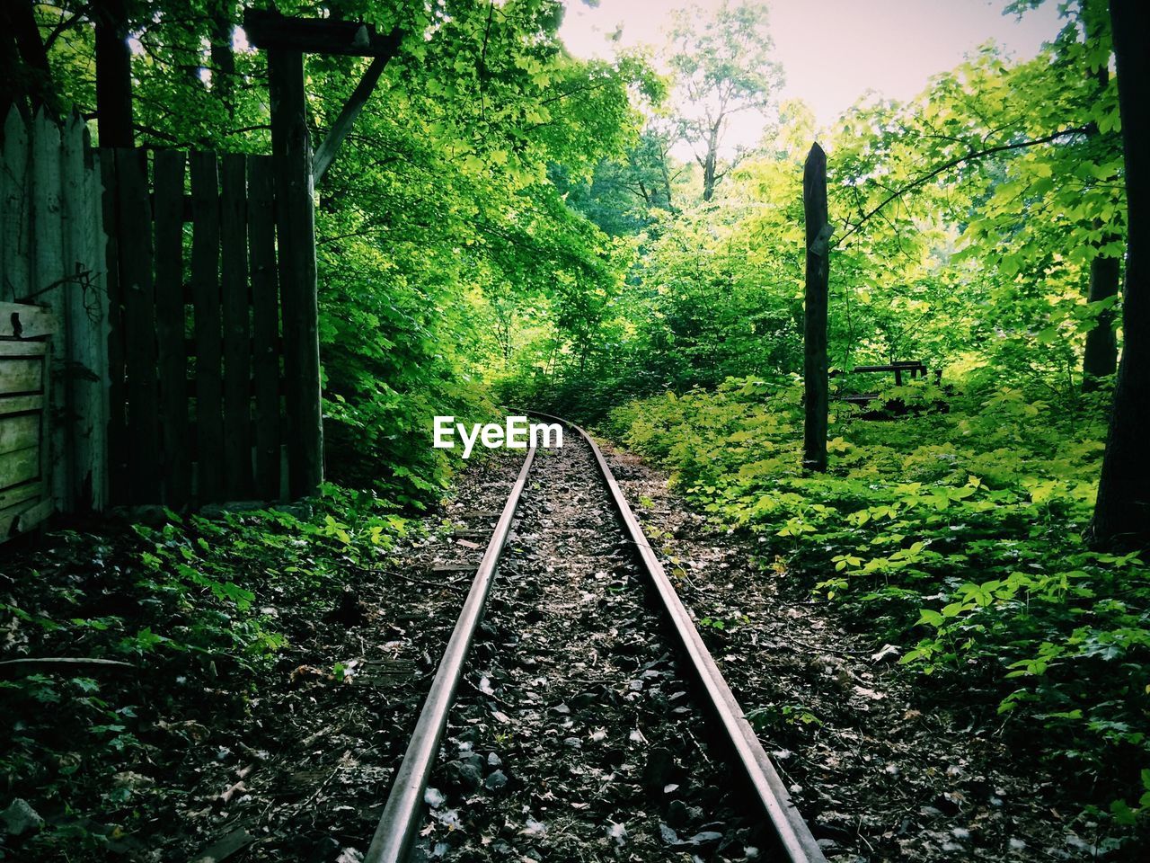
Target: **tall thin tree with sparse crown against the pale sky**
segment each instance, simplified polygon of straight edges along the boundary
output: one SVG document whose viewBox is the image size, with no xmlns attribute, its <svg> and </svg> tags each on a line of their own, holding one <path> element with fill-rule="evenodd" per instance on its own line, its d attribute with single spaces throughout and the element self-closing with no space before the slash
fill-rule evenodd
<svg viewBox="0 0 1150 863">
<path fill-rule="evenodd" d="M 680 136 L 691 145 L 703 169 L 703 200 L 710 201 L 715 184 L 738 160 L 736 155 L 721 165 L 723 133 L 731 116 L 762 112 L 783 82 L 782 67 L 772 59 L 767 8 L 723 0 L 710 18 L 698 8 L 680 12 L 670 44 Z"/>
</svg>

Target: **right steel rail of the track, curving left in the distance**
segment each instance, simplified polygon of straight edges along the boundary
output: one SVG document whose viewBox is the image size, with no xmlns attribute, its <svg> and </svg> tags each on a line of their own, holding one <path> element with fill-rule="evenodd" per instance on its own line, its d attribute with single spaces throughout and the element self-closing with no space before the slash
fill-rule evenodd
<svg viewBox="0 0 1150 863">
<path fill-rule="evenodd" d="M 715 665 L 711 651 L 703 643 L 698 629 L 695 628 L 695 624 L 678 598 L 674 585 L 667 578 L 662 564 L 651 549 L 651 544 L 643 534 L 643 527 L 639 525 L 638 519 L 635 518 L 635 513 L 631 512 L 631 507 L 628 505 L 627 498 L 623 497 L 623 491 L 615 480 L 614 474 L 611 473 L 607 460 L 603 457 L 598 444 L 591 440 L 591 436 L 586 432 L 561 417 L 552 417 L 536 411 L 531 411 L 530 413 L 561 422 L 575 429 L 591 445 L 591 451 L 595 452 L 595 458 L 599 463 L 603 479 L 611 491 L 615 510 L 623 521 L 631 543 L 638 551 L 647 576 L 651 579 L 659 595 L 664 611 L 670 618 L 680 647 L 689 658 L 696 679 L 702 685 L 704 692 L 706 692 L 707 698 L 722 725 L 727 739 L 734 747 L 746 778 L 750 780 L 759 802 L 770 818 L 782 849 L 791 863 L 826 863 L 827 858 L 822 854 L 822 849 L 811 834 L 811 828 L 803 819 L 803 816 L 791 802 L 790 794 L 787 791 L 787 786 L 783 785 L 779 771 L 770 763 L 770 758 L 767 756 L 766 750 L 764 750 L 762 743 L 759 741 L 751 724 L 746 721 L 743 709 L 738 705 L 735 695 L 731 693 L 726 679 L 723 679 L 722 672 Z"/>
</svg>

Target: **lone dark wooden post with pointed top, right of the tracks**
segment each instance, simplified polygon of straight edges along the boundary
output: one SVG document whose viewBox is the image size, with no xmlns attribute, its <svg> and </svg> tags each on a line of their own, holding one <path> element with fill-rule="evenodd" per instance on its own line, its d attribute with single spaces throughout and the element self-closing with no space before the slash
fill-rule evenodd
<svg viewBox="0 0 1150 863">
<path fill-rule="evenodd" d="M 830 224 L 827 220 L 827 154 L 811 145 L 803 167 L 806 221 L 806 305 L 803 320 L 803 381 L 806 415 L 803 467 L 827 469 L 827 290 Z"/>
</svg>

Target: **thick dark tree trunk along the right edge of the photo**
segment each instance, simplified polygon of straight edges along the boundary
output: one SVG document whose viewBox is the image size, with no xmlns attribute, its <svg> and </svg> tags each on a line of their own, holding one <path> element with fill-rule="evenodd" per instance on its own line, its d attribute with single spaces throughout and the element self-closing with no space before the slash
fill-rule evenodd
<svg viewBox="0 0 1150 863">
<path fill-rule="evenodd" d="M 1126 156 L 1127 255 L 1124 348 L 1091 533 L 1103 544 L 1150 542 L 1150 53 L 1141 0 L 1110 0 Z"/>
</svg>

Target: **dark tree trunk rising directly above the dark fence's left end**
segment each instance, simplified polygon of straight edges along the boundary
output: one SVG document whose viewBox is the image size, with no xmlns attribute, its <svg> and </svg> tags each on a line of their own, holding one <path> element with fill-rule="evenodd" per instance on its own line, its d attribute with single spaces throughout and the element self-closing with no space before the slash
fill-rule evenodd
<svg viewBox="0 0 1150 863">
<path fill-rule="evenodd" d="M 132 52 L 124 0 L 97 0 L 95 110 L 101 147 L 132 147 Z"/>
</svg>

